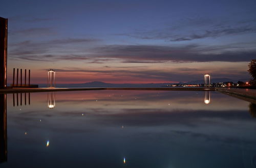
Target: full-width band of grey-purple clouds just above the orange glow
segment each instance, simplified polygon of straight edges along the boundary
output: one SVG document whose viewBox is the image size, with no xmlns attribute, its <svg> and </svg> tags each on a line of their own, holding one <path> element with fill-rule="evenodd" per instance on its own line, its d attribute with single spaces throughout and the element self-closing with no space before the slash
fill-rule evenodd
<svg viewBox="0 0 256 168">
<path fill-rule="evenodd" d="M 58 60 L 87 60 L 88 63 L 102 64 L 107 61 L 120 61 L 122 63 L 163 63 L 172 62 L 244 62 L 255 58 L 256 50 L 233 49 L 233 46 L 200 47 L 198 45 L 186 46 L 160 46 L 160 45 L 105 45 L 101 47 L 81 49 L 85 53 L 72 53 L 72 48 L 66 50 L 63 44 L 91 44 L 97 39 L 62 39 L 46 42 L 25 41 L 11 45 L 9 55 L 12 59 L 44 61 L 51 57 Z M 61 44 L 59 46 L 58 44 Z M 230 50 L 228 51 L 228 48 Z M 232 50 L 231 50 L 232 49 Z M 54 50 L 54 54 L 49 54 Z M 63 53 L 65 52 L 65 53 Z"/>
</svg>

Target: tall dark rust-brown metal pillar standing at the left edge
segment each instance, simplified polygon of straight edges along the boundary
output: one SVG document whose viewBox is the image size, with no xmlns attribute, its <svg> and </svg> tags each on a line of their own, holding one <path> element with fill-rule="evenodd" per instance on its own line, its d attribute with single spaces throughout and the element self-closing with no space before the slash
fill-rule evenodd
<svg viewBox="0 0 256 168">
<path fill-rule="evenodd" d="M 0 17 L 0 89 L 7 87 L 7 34 L 8 19 Z"/>
</svg>

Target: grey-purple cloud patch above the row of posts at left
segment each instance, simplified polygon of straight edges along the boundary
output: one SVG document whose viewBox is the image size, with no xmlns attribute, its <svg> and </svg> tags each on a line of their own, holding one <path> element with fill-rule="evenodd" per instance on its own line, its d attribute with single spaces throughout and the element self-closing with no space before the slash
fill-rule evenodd
<svg viewBox="0 0 256 168">
<path fill-rule="evenodd" d="M 30 61 L 52 61 L 58 60 L 87 60 L 88 55 L 78 55 L 70 53 L 63 53 L 65 48 L 63 45 L 70 44 L 88 44 L 99 41 L 98 39 L 87 38 L 68 38 L 68 39 L 56 39 L 50 41 L 23 41 L 19 43 L 10 44 L 10 51 L 8 54 L 13 60 L 30 60 Z M 55 54 L 51 52 L 54 50 Z M 57 52 L 57 53 L 56 53 Z"/>
</svg>

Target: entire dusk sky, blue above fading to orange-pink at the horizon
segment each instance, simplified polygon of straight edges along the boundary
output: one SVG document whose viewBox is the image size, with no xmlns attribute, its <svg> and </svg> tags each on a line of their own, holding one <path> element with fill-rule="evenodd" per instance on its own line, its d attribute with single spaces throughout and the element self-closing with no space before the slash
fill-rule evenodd
<svg viewBox="0 0 256 168">
<path fill-rule="evenodd" d="M 12 69 L 32 83 L 248 79 L 256 59 L 256 1 L 2 1 Z"/>
</svg>

